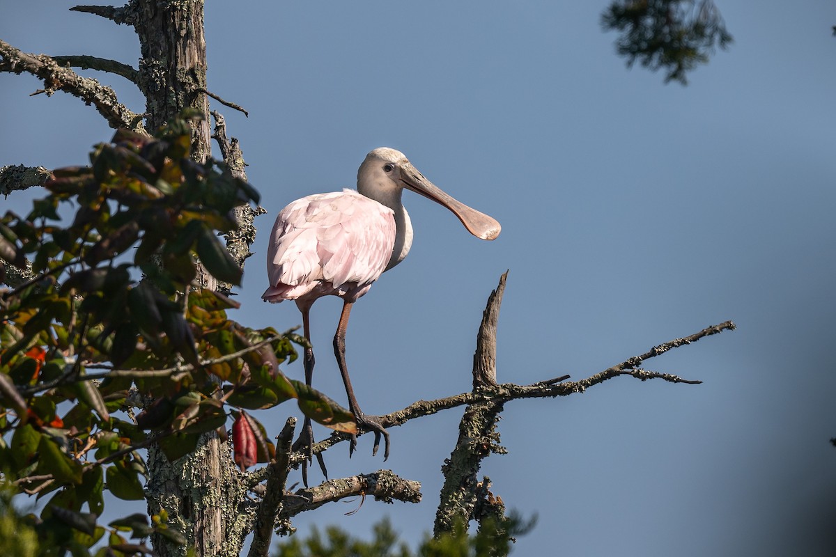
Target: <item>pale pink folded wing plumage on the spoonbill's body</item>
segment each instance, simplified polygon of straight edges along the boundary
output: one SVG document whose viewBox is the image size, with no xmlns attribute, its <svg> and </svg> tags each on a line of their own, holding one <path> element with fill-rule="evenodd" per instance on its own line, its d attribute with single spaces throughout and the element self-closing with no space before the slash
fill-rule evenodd
<svg viewBox="0 0 836 557">
<path fill-rule="evenodd" d="M 389 263 L 395 246 L 391 209 L 354 190 L 308 195 L 285 207 L 270 235 L 266 301 L 303 296 L 356 300 Z"/>
</svg>

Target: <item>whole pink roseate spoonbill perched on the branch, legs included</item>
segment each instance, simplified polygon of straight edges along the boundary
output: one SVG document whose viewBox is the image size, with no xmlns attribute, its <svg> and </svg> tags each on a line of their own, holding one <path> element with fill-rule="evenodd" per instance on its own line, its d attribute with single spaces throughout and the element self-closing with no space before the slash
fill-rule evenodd
<svg viewBox="0 0 836 557">
<path fill-rule="evenodd" d="M 310 340 L 308 313 L 320 296 L 339 296 L 343 311 L 334 335 L 334 354 L 343 377 L 349 409 L 359 427 L 375 433 L 376 454 L 380 436 L 385 438 L 384 458 L 389 457 L 389 433 L 380 419 L 364 414 L 354 397 L 345 364 L 345 330 L 354 302 L 369 291 L 381 273 L 403 261 L 412 245 L 410 216 L 400 202 L 404 188 L 424 195 L 451 210 L 472 235 L 493 240 L 499 235 L 497 220 L 454 200 L 433 185 L 395 149 L 381 147 L 366 155 L 357 171 L 357 191 L 342 190 L 308 195 L 293 201 L 276 218 L 270 235 L 267 271 L 270 287 L 265 301 L 295 300 L 302 311 L 305 337 Z M 304 353 L 305 382 L 314 374 L 314 351 Z M 308 450 L 311 460 L 313 433 L 305 418 L 297 448 Z M 356 448 L 351 439 L 349 454 Z M 324 462 L 318 454 L 325 473 Z M 307 462 L 305 463 L 307 464 Z M 303 479 L 307 484 L 306 466 Z M 327 475 L 327 474 L 326 474 Z"/>
</svg>

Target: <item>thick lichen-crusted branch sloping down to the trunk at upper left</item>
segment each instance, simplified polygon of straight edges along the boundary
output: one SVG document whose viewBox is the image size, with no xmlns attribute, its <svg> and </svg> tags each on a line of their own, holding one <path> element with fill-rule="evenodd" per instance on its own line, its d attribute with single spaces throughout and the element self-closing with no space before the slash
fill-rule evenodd
<svg viewBox="0 0 836 557">
<path fill-rule="evenodd" d="M 43 81 L 43 93 L 64 91 L 92 104 L 104 116 L 111 128 L 127 128 L 145 134 L 142 115 L 136 114 L 119 102 L 110 87 L 92 78 L 83 78 L 45 54 L 24 53 L 0 40 L 0 72 L 31 73 Z"/>
</svg>

